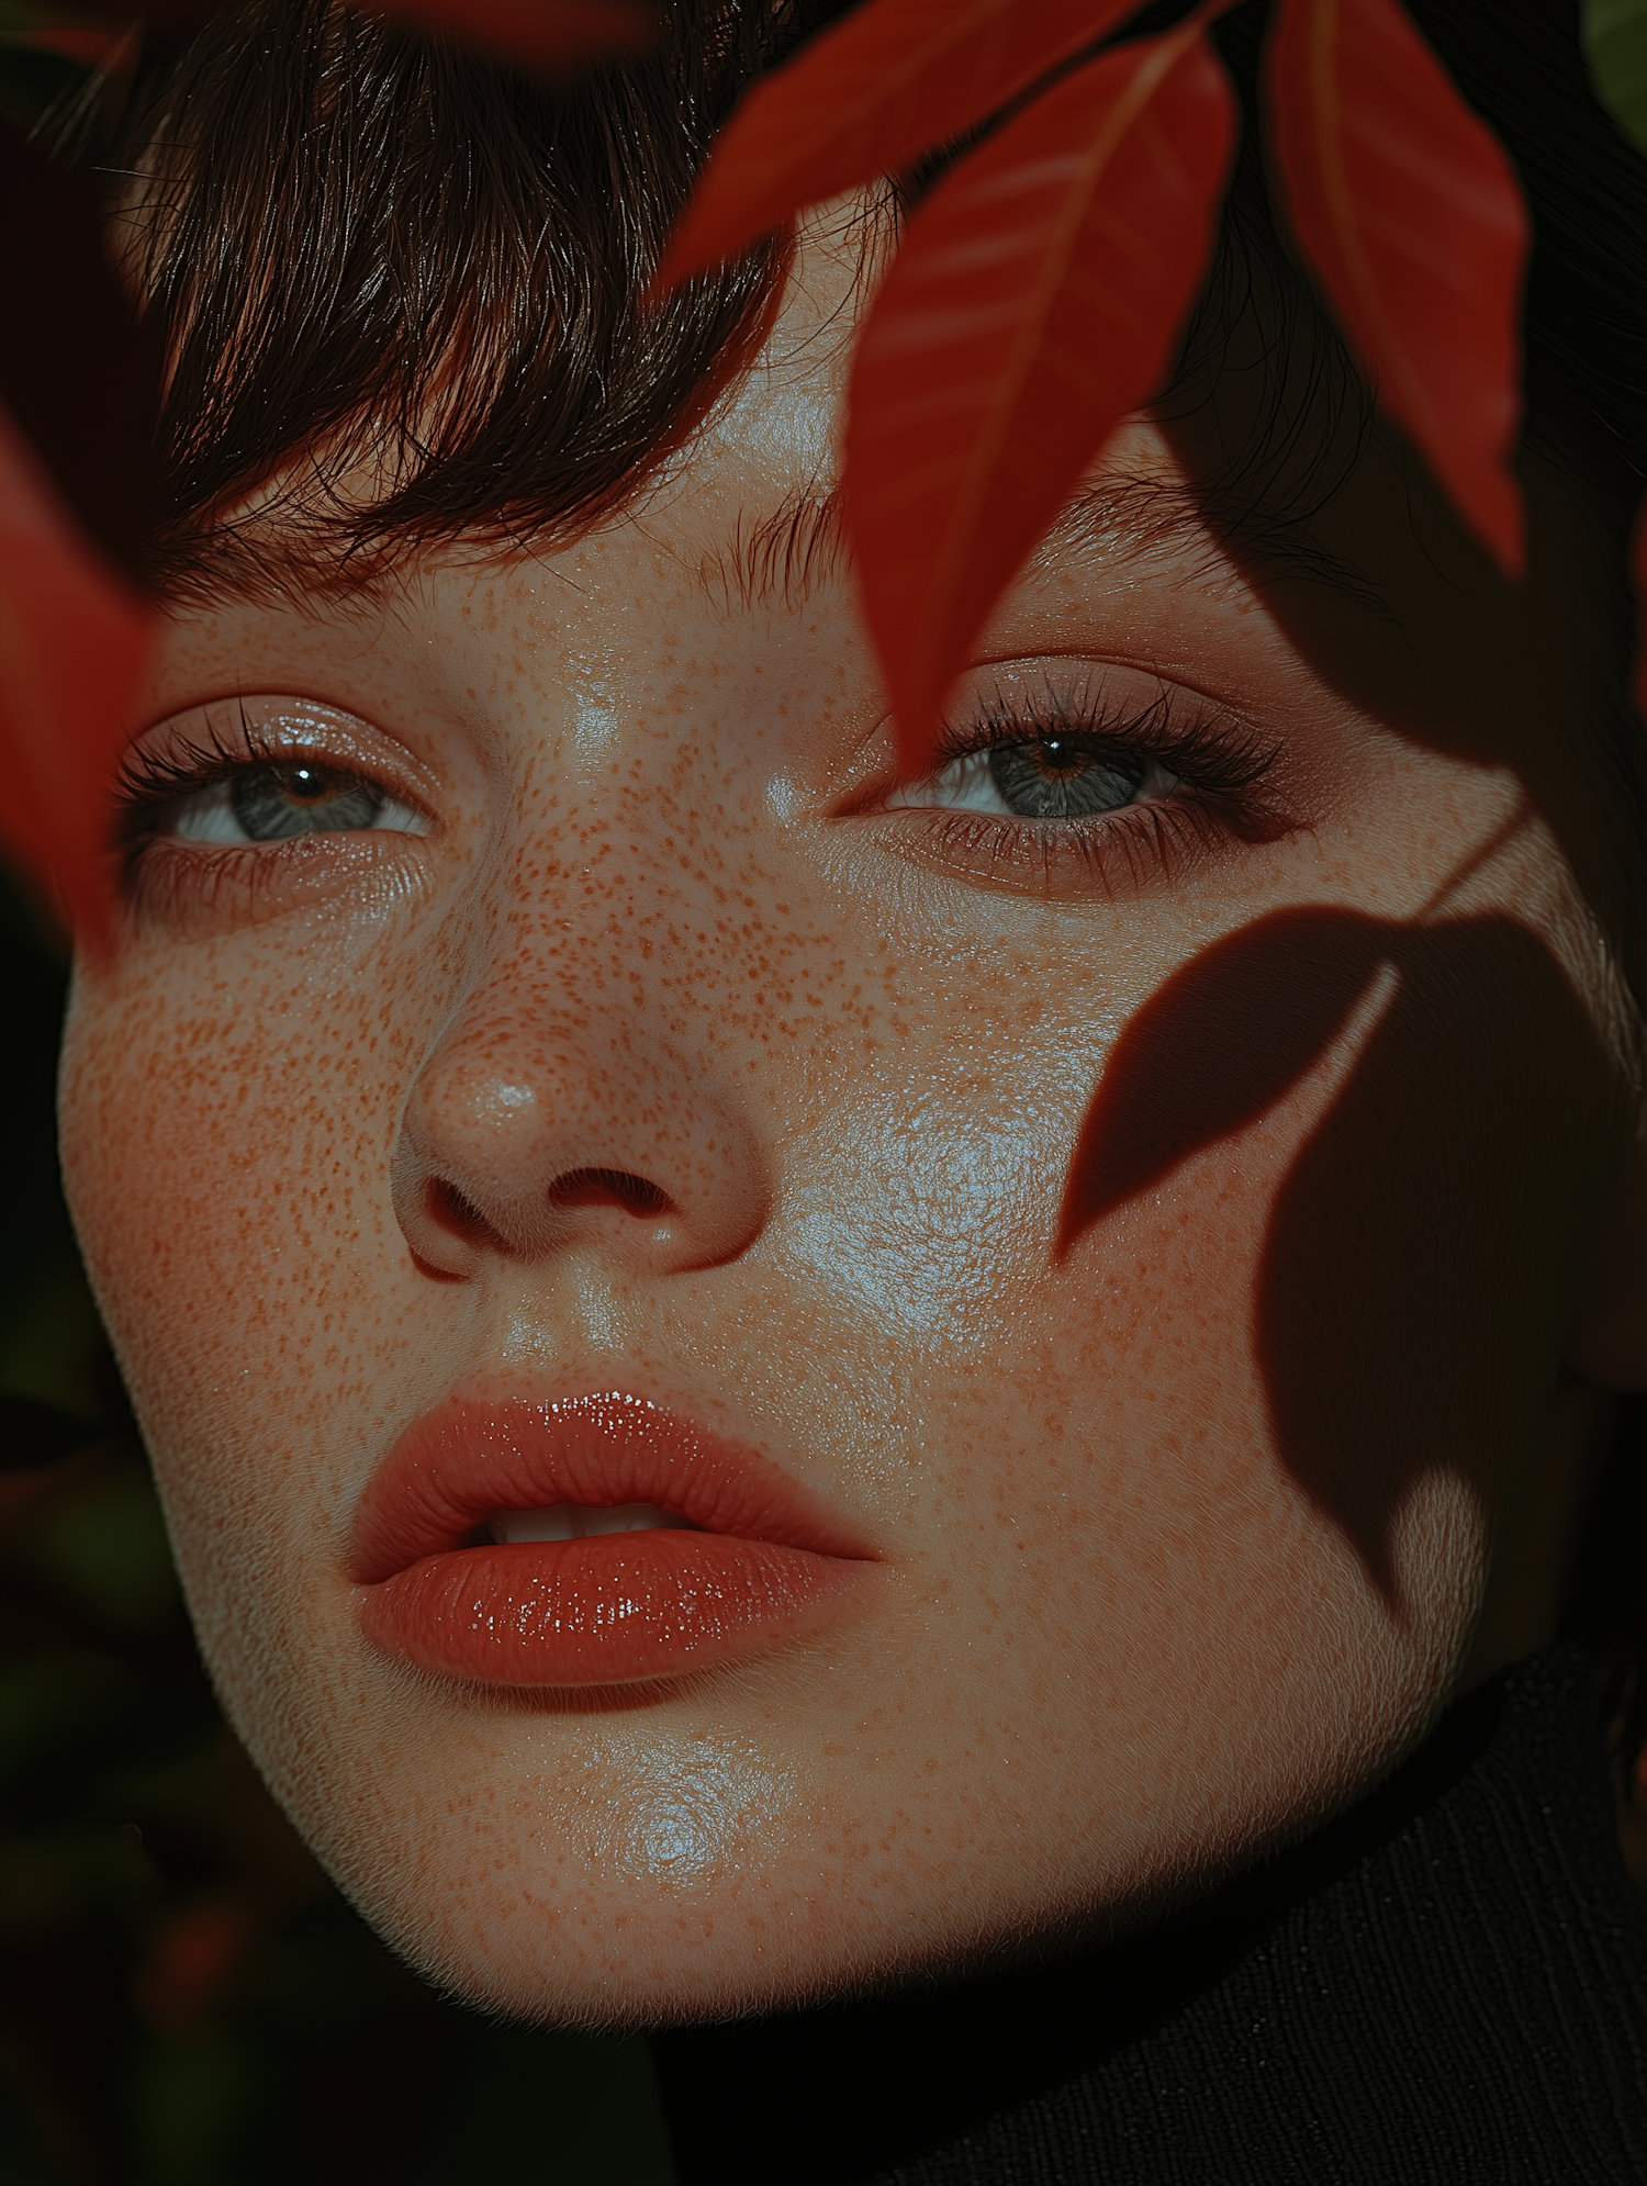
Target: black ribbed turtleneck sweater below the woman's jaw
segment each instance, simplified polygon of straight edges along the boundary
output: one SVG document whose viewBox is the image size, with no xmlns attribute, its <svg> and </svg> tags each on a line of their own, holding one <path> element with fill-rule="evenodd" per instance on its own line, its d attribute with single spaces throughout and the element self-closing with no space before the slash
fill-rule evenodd
<svg viewBox="0 0 1647 2186">
<path fill-rule="evenodd" d="M 1647 1921 L 1586 1657 L 1102 1952 L 654 2055 L 680 2186 L 1647 2186 Z"/>
</svg>

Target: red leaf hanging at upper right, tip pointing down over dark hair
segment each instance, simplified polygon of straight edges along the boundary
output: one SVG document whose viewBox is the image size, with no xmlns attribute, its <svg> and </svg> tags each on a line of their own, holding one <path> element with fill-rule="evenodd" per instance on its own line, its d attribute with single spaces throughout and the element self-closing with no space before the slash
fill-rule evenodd
<svg viewBox="0 0 1647 2186">
<path fill-rule="evenodd" d="M 1520 575 L 1527 208 L 1498 138 L 1400 0 L 1284 0 L 1269 107 L 1293 230 L 1380 402 Z"/>
</svg>

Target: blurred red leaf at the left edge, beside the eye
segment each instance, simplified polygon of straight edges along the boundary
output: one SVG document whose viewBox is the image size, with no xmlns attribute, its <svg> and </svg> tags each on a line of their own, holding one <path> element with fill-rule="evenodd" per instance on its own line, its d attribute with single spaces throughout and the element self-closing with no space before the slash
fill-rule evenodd
<svg viewBox="0 0 1647 2186">
<path fill-rule="evenodd" d="M 92 944 L 109 929 L 105 791 L 149 632 L 0 409 L 0 837 Z"/>
</svg>

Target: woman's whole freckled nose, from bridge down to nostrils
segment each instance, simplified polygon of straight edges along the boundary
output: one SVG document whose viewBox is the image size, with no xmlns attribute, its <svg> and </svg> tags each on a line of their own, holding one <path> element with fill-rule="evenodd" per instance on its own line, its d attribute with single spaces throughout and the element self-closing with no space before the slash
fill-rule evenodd
<svg viewBox="0 0 1647 2186">
<path fill-rule="evenodd" d="M 763 1148 L 706 1038 L 704 918 L 685 892 L 680 918 L 647 916 L 601 863 L 532 912 L 510 892 L 411 1089 L 396 1211 L 448 1272 L 599 1239 L 658 1270 L 706 1266 L 761 1226 Z M 680 942 L 696 966 L 671 962 Z"/>
</svg>

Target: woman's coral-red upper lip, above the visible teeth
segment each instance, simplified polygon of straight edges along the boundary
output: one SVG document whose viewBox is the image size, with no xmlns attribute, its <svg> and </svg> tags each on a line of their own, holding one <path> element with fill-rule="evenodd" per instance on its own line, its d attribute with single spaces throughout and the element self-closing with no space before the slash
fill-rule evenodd
<svg viewBox="0 0 1647 2186">
<path fill-rule="evenodd" d="M 873 1552 L 770 1458 L 630 1390 L 448 1397 L 400 1436 L 354 1513 L 352 1576 L 464 1548 L 497 1511 L 658 1504 L 704 1532 Z"/>
</svg>

